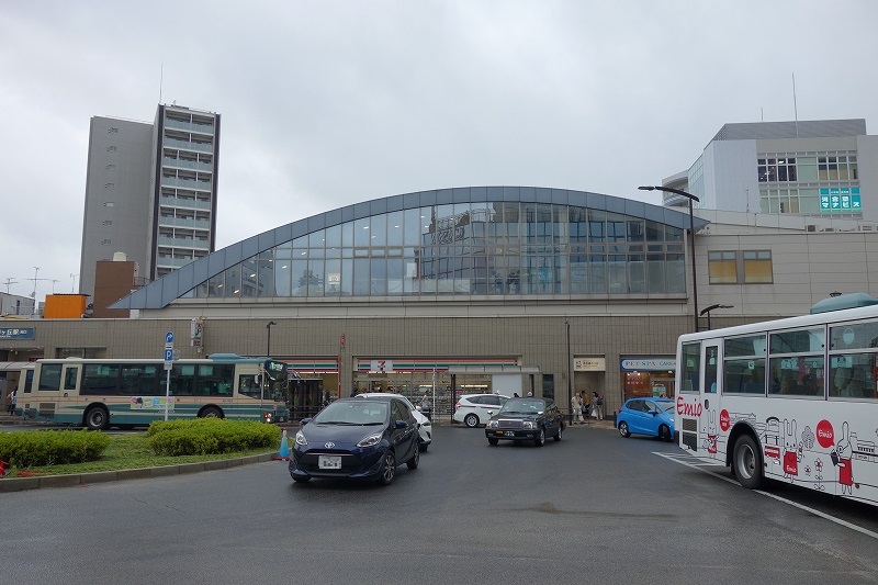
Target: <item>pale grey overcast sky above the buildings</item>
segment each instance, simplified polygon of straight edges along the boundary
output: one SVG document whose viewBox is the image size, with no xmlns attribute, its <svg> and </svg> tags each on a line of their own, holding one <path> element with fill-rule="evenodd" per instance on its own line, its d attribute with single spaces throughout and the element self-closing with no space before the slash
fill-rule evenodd
<svg viewBox="0 0 878 585">
<path fill-rule="evenodd" d="M 217 246 L 412 191 L 657 203 L 722 124 L 878 124 L 878 2 L 0 0 L 0 290 L 78 280 L 89 120 L 222 114 Z M 35 271 L 38 267 L 38 273 Z"/>
</svg>

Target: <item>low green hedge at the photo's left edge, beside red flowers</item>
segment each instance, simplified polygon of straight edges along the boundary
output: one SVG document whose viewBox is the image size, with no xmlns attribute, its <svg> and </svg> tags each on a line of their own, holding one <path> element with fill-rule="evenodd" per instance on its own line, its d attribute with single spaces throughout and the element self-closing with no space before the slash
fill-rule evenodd
<svg viewBox="0 0 878 585">
<path fill-rule="evenodd" d="M 97 461 L 110 437 L 87 430 L 0 432 L 0 459 L 15 468 Z"/>
</svg>

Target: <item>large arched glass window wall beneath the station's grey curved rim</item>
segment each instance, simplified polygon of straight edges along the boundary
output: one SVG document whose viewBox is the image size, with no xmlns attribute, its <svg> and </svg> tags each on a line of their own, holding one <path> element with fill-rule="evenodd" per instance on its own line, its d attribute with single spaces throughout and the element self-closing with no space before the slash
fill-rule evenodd
<svg viewBox="0 0 878 585">
<path fill-rule="evenodd" d="M 641 295 L 686 291 L 684 230 L 609 210 L 448 203 L 316 229 L 183 297 Z"/>
</svg>

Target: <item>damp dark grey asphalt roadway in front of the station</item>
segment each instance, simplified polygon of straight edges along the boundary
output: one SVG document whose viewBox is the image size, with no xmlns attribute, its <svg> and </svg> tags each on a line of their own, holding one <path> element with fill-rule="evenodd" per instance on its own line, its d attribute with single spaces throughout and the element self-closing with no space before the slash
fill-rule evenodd
<svg viewBox="0 0 878 585">
<path fill-rule="evenodd" d="M 679 461 L 606 428 L 536 448 L 455 426 L 389 487 L 271 461 L 0 494 L 0 582 L 878 582 L 878 508 Z"/>
</svg>

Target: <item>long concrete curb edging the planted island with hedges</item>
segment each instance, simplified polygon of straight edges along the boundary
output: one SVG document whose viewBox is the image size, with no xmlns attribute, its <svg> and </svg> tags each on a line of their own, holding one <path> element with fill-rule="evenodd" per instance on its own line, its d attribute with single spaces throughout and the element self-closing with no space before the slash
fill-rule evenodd
<svg viewBox="0 0 878 585">
<path fill-rule="evenodd" d="M 0 493 L 22 492 L 24 490 L 40 490 L 43 487 L 71 487 L 75 485 L 89 485 L 92 483 L 119 482 L 123 480 L 147 480 L 151 477 L 167 477 L 169 475 L 183 475 L 200 471 L 215 471 L 251 463 L 263 463 L 277 459 L 277 453 L 262 453 L 236 459 L 217 459 L 201 463 L 181 463 L 179 465 L 162 465 L 159 468 L 142 468 L 135 470 L 95 471 L 92 473 L 71 473 L 69 475 L 38 475 L 35 477 L 7 477 L 0 479 Z"/>
</svg>

